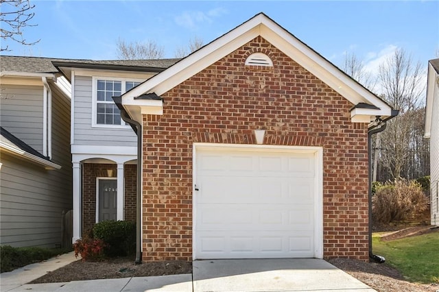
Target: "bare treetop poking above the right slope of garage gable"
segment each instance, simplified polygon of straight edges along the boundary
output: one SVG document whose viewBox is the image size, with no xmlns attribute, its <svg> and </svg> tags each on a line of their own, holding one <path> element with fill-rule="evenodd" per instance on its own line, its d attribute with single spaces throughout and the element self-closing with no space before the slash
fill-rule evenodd
<svg viewBox="0 0 439 292">
<path fill-rule="evenodd" d="M 344 64 L 342 64 L 342 70 L 344 73 L 353 77 L 359 84 L 368 88 L 368 90 L 374 90 L 377 81 L 373 77 L 372 73 L 367 71 L 364 66 L 364 62 L 355 56 L 355 53 L 346 53 L 344 55 Z"/>
</svg>

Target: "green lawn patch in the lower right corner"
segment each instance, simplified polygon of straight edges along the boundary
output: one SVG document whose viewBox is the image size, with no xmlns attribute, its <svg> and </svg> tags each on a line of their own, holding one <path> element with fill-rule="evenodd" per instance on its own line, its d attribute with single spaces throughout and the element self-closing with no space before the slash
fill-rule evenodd
<svg viewBox="0 0 439 292">
<path fill-rule="evenodd" d="M 373 236 L 373 253 L 412 282 L 439 282 L 439 232 L 381 241 Z"/>
</svg>

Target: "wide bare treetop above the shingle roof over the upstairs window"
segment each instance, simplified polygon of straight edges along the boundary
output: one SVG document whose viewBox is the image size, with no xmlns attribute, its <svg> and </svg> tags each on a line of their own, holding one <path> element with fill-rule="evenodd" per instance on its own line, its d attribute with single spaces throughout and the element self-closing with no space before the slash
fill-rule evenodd
<svg viewBox="0 0 439 292">
<path fill-rule="evenodd" d="M 131 42 L 119 38 L 117 40 L 117 58 L 123 60 L 161 59 L 165 55 L 165 49 L 157 45 L 154 40 L 147 42 Z"/>
</svg>

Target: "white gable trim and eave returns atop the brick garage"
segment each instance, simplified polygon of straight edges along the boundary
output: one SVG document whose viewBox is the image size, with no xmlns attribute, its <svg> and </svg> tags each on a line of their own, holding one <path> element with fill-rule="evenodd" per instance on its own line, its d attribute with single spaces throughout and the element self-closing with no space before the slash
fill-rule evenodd
<svg viewBox="0 0 439 292">
<path fill-rule="evenodd" d="M 263 13 L 257 14 L 252 19 L 176 62 L 165 71 L 154 75 L 123 94 L 123 107 L 133 119 L 141 121 L 140 112 L 143 104 L 139 99 L 135 102 L 134 97 L 148 93 L 162 95 L 257 36 L 262 36 L 274 47 L 283 51 L 289 58 L 292 58 L 337 93 L 351 101 L 354 105 L 351 110 L 353 121 L 370 122 L 375 119 L 375 116 L 387 119 L 396 115 L 396 112 L 385 101 L 361 86 L 353 78 L 338 69 L 337 66 L 334 66 Z M 355 107 L 357 104 L 368 104 L 370 107 Z"/>
</svg>

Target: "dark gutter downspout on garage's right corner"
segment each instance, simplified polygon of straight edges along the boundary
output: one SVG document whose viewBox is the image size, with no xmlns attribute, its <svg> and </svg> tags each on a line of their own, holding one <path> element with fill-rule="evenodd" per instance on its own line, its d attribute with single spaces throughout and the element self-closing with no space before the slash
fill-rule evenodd
<svg viewBox="0 0 439 292">
<path fill-rule="evenodd" d="M 396 117 L 399 114 L 399 110 L 392 110 L 390 117 L 381 120 L 381 117 L 377 116 L 375 125 L 368 130 L 368 213 L 369 213 L 369 259 L 375 263 L 384 263 L 385 258 L 383 256 L 377 256 L 372 252 L 372 135 L 379 132 L 383 132 L 387 127 L 387 121 Z"/>
</svg>

